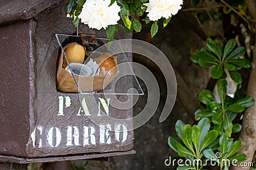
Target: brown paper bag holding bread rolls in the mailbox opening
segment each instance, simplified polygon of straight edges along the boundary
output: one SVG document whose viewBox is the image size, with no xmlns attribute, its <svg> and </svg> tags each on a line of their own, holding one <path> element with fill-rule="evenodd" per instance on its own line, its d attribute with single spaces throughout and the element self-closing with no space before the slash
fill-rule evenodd
<svg viewBox="0 0 256 170">
<path fill-rule="evenodd" d="M 72 43 L 66 45 L 65 48 L 72 45 Z M 109 66 L 109 61 L 111 60 L 111 67 Z M 111 83 L 115 76 L 119 73 L 117 67 L 117 60 L 115 56 L 109 57 L 108 53 L 103 53 L 99 57 L 93 59 L 100 67 L 99 76 L 77 76 L 77 83 L 81 89 L 81 92 L 95 92 L 105 89 L 106 86 Z M 79 92 L 71 73 L 68 73 L 63 67 L 63 52 L 61 52 L 58 60 L 58 70 L 57 70 L 57 88 L 60 92 Z M 113 66 L 115 65 L 115 66 Z M 103 75 L 102 75 L 103 74 Z"/>
</svg>

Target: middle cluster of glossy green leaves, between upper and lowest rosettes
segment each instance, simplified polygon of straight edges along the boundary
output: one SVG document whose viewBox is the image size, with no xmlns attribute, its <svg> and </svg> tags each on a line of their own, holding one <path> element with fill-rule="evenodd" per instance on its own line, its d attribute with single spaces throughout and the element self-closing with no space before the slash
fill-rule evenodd
<svg viewBox="0 0 256 170">
<path fill-rule="evenodd" d="M 217 103 L 212 92 L 209 90 L 204 90 L 199 94 L 199 100 L 206 105 L 205 109 L 199 109 L 195 112 L 195 120 L 200 120 L 200 118 L 211 118 L 212 124 L 214 124 L 214 129 L 218 131 L 219 135 L 222 134 L 222 130 L 231 136 L 233 131 L 233 124 L 231 121 L 231 116 L 236 113 L 241 113 L 245 108 L 253 105 L 254 99 L 252 97 L 244 97 L 237 100 L 236 97 L 232 101 L 228 102 L 227 96 L 227 81 L 218 80 L 217 83 L 218 96 L 221 99 L 221 103 Z M 239 130 L 240 129 L 240 130 Z M 236 125 L 235 132 L 241 131 L 241 127 Z"/>
</svg>

